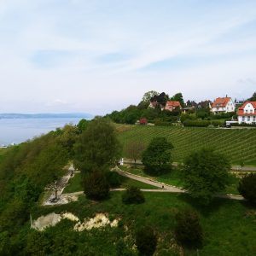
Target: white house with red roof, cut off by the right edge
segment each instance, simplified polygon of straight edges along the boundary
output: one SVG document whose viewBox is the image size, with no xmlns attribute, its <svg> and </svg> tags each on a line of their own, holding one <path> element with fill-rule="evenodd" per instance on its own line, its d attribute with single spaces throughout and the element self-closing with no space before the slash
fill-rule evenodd
<svg viewBox="0 0 256 256">
<path fill-rule="evenodd" d="M 256 124 L 256 102 L 244 102 L 237 110 L 239 124 Z"/>
</svg>

